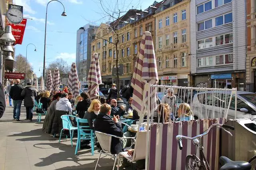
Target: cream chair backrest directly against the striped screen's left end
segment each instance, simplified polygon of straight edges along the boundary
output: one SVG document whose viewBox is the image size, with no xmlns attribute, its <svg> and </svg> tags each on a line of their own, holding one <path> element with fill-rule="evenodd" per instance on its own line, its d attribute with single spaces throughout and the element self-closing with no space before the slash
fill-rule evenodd
<svg viewBox="0 0 256 170">
<path fill-rule="evenodd" d="M 133 153 L 133 161 L 146 159 L 146 135 L 147 131 L 138 131 Z"/>
</svg>

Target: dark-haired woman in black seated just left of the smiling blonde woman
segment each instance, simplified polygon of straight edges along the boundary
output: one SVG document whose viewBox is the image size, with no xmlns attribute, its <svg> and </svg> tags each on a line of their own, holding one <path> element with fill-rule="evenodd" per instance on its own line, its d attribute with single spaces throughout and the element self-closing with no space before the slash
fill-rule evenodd
<svg viewBox="0 0 256 170">
<path fill-rule="evenodd" d="M 76 105 L 76 114 L 78 114 L 78 117 L 83 118 L 84 113 L 87 111 L 91 102 L 88 93 L 82 92 L 80 96 L 82 98 L 82 101 L 78 102 L 78 104 Z"/>
</svg>

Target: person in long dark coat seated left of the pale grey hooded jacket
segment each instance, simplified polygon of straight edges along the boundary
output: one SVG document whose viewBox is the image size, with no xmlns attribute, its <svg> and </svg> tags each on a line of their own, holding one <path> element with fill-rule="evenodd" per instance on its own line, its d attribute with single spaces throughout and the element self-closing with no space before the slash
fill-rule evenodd
<svg viewBox="0 0 256 170">
<path fill-rule="evenodd" d="M 47 114 L 44 119 L 43 131 L 44 133 L 51 133 L 52 131 L 52 123 L 56 111 L 56 103 L 60 100 L 61 93 L 56 93 L 53 98 L 50 106 L 47 109 Z"/>
</svg>

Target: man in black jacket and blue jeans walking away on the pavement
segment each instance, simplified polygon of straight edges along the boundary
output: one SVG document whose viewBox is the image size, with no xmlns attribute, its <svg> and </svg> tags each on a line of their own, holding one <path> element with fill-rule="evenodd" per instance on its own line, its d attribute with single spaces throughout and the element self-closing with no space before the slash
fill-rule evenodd
<svg viewBox="0 0 256 170">
<path fill-rule="evenodd" d="M 20 86 L 20 79 L 16 79 L 16 84 L 11 87 L 10 96 L 13 100 L 13 119 L 16 121 L 20 121 L 20 107 L 23 97 L 21 96 L 21 92 L 23 87 Z"/>
</svg>

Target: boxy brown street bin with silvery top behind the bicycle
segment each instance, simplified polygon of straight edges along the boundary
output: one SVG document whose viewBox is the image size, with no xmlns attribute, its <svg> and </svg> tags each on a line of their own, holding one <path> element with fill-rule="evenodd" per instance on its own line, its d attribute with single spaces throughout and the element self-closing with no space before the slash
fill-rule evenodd
<svg viewBox="0 0 256 170">
<path fill-rule="evenodd" d="M 256 155 L 256 122 L 252 119 L 229 119 L 225 124 L 235 129 L 230 131 L 232 137 L 222 130 L 220 156 L 248 162 Z"/>
</svg>

